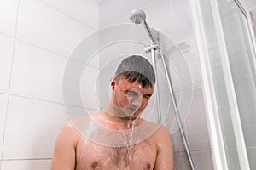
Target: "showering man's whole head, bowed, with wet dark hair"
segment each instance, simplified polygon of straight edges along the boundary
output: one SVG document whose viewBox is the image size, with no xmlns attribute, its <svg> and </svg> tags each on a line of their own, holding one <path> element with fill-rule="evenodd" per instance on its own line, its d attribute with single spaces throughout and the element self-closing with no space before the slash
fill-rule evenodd
<svg viewBox="0 0 256 170">
<path fill-rule="evenodd" d="M 147 59 L 132 55 L 121 61 L 111 82 L 112 102 L 119 116 L 137 118 L 153 94 L 155 74 Z"/>
</svg>

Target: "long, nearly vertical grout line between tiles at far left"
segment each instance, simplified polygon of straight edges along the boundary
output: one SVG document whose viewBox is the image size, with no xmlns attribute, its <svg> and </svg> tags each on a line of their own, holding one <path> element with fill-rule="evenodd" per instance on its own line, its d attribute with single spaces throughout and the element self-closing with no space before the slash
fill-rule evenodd
<svg viewBox="0 0 256 170">
<path fill-rule="evenodd" d="M 2 154 L 1 154 L 1 161 L 0 161 L 0 170 L 2 169 L 2 160 L 3 160 L 3 150 L 4 150 L 4 144 L 5 144 L 5 134 L 6 134 L 6 126 L 7 126 L 7 120 L 8 120 L 8 112 L 9 112 L 9 92 L 11 87 L 11 80 L 12 80 L 12 72 L 13 72 L 13 65 L 14 65 L 14 59 L 15 59 L 15 45 L 16 45 L 16 36 L 17 36 L 17 25 L 18 25 L 18 17 L 19 17 L 19 11 L 20 11 L 20 0 L 17 4 L 17 14 L 16 14 L 16 21 L 15 21 L 15 41 L 13 45 L 13 56 L 12 56 L 12 62 L 10 67 L 10 73 L 9 73 L 9 89 L 8 89 L 8 98 L 7 98 L 7 105 L 6 105 L 6 111 L 5 111 L 5 120 L 4 120 L 4 126 L 3 126 L 3 144 L 2 144 Z"/>
</svg>

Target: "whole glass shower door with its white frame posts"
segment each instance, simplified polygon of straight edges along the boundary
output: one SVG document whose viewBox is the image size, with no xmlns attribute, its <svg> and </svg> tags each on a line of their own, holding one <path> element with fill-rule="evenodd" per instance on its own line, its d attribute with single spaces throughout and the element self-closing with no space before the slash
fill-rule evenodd
<svg viewBox="0 0 256 170">
<path fill-rule="evenodd" d="M 215 169 L 256 169 L 255 48 L 245 11 L 191 0 Z"/>
</svg>

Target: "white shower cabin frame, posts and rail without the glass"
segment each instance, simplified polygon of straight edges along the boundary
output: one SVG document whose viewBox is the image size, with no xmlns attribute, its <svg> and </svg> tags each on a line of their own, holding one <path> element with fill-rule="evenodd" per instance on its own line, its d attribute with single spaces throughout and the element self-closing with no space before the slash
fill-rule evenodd
<svg viewBox="0 0 256 170">
<path fill-rule="evenodd" d="M 238 1 L 235 1 L 238 8 L 241 8 L 242 14 L 247 17 L 250 37 L 252 38 L 252 48 L 255 54 L 255 39 L 253 37 L 252 22 L 247 15 L 247 11 L 241 7 Z M 207 113 L 207 126 L 210 135 L 210 142 L 212 147 L 212 161 L 214 169 L 228 170 L 227 156 L 224 149 L 224 138 L 221 129 L 220 117 L 218 112 L 218 103 L 216 92 L 214 89 L 214 82 L 212 80 L 212 70 L 210 58 L 207 50 L 206 32 L 204 30 L 202 12 L 200 7 L 200 0 L 190 0 L 193 24 L 195 29 L 195 37 L 198 46 L 198 53 L 201 65 L 201 82 L 202 90 L 205 99 L 205 108 Z M 230 60 L 224 39 L 224 29 L 221 22 L 220 12 L 218 9 L 218 0 L 210 0 L 212 9 L 213 24 L 215 26 L 218 50 L 221 59 L 221 66 L 224 74 L 224 84 L 227 93 L 228 103 L 230 105 L 231 122 L 233 124 L 235 141 L 237 146 L 237 155 L 241 169 L 250 169 L 247 148 L 245 144 L 244 134 L 241 126 L 241 117 L 237 105 L 236 92 L 233 83 L 233 78 L 230 70 Z M 251 25 L 251 26 L 250 26 Z M 255 61 L 255 60 L 254 60 Z M 254 63 L 255 65 L 255 63 Z"/>
</svg>

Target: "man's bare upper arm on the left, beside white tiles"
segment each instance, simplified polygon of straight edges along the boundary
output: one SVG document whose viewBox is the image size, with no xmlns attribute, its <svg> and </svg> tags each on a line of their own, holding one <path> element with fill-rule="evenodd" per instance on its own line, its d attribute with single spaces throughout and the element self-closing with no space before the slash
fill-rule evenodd
<svg viewBox="0 0 256 170">
<path fill-rule="evenodd" d="M 76 164 L 76 133 L 70 123 L 61 128 L 51 162 L 51 170 L 74 170 Z"/>
</svg>

